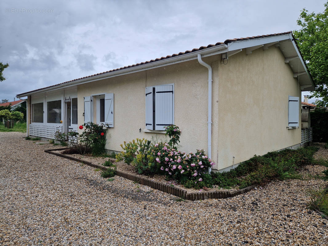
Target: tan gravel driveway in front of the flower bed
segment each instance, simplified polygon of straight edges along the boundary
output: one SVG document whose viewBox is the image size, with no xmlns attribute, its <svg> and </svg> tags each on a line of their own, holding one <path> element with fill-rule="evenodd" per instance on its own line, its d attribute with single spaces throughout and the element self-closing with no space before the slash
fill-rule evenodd
<svg viewBox="0 0 328 246">
<path fill-rule="evenodd" d="M 0 245 L 328 244 L 328 221 L 306 209 L 321 179 L 177 202 L 118 176 L 107 181 L 23 136 L 0 133 Z"/>
</svg>

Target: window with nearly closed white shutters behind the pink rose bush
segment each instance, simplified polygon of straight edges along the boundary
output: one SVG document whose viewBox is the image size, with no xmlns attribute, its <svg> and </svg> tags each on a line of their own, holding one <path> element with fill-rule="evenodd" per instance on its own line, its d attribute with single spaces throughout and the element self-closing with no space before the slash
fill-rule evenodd
<svg viewBox="0 0 328 246">
<path fill-rule="evenodd" d="M 174 124 L 174 85 L 146 87 L 146 129 L 164 130 Z"/>
</svg>

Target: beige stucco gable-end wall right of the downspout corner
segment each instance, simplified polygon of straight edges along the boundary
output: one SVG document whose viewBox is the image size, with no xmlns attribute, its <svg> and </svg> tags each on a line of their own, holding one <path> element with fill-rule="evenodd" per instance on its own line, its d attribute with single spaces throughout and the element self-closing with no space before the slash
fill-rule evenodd
<svg viewBox="0 0 328 246">
<path fill-rule="evenodd" d="M 220 64 L 218 159 L 215 169 L 301 141 L 301 129 L 287 129 L 288 95 L 301 96 L 293 72 L 278 47 L 242 51 Z M 300 124 L 299 111 L 299 124 Z M 213 155 L 212 155 L 213 157 Z"/>
</svg>

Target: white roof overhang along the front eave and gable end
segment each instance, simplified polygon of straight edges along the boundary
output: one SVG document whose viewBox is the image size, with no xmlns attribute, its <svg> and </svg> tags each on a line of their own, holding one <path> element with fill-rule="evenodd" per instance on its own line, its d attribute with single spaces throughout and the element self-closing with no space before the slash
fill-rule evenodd
<svg viewBox="0 0 328 246">
<path fill-rule="evenodd" d="M 49 92 L 49 91 L 63 89 L 71 86 L 84 84 L 84 83 L 90 83 L 97 80 L 112 78 L 120 75 L 169 66 L 185 61 L 195 60 L 197 59 L 198 54 L 200 54 L 202 57 L 212 56 L 216 54 L 223 54 L 223 53 L 225 53 L 226 56 L 231 56 L 233 54 L 240 52 L 242 49 L 246 49 L 246 53 L 249 54 L 255 49 L 259 49 L 259 48 L 262 48 L 264 50 L 268 49 L 268 47 L 271 45 L 279 46 L 281 52 L 285 56 L 285 63 L 289 63 L 292 71 L 294 72 L 294 77 L 296 77 L 299 81 L 301 91 L 314 90 L 315 85 L 312 80 L 312 77 L 306 68 L 305 62 L 301 54 L 299 53 L 297 45 L 294 41 L 294 37 L 290 32 L 290 33 L 283 33 L 280 35 L 259 36 L 258 38 L 252 37 L 250 39 L 244 39 L 244 40 L 232 40 L 232 41 L 226 40 L 225 44 L 216 45 L 214 47 L 206 48 L 203 50 L 198 50 L 195 52 L 190 52 L 187 54 L 182 54 L 175 57 L 158 60 L 155 62 L 151 62 L 139 66 L 124 68 L 113 72 L 106 72 L 106 73 L 101 73 L 99 75 L 98 74 L 92 75 L 90 77 L 64 82 L 47 88 L 43 88 L 31 92 L 25 92 L 22 94 L 17 94 L 16 96 L 20 98 L 35 93 Z"/>
</svg>

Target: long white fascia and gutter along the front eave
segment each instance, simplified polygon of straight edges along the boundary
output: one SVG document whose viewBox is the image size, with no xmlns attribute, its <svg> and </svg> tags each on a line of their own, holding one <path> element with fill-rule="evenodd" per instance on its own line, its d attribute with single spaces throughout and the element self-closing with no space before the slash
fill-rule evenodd
<svg viewBox="0 0 328 246">
<path fill-rule="evenodd" d="M 75 80 L 72 82 L 64 83 L 64 84 L 53 86 L 50 88 L 45 88 L 45 89 L 38 90 L 35 92 L 25 93 L 25 94 L 22 94 L 19 96 L 23 97 L 23 96 L 27 96 L 27 95 L 31 95 L 31 94 L 35 94 L 35 93 L 40 93 L 40 92 L 49 92 L 49 91 L 58 90 L 58 89 L 66 88 L 66 87 L 71 87 L 73 85 L 90 83 L 90 82 L 101 80 L 101 79 L 116 77 L 119 75 L 125 75 L 125 74 L 134 73 L 134 72 L 141 72 L 141 71 L 145 71 L 145 70 L 149 70 L 149 69 L 177 64 L 180 62 L 196 60 L 197 54 L 201 54 L 202 57 L 207 57 L 207 56 L 212 56 L 212 55 L 216 55 L 216 54 L 220 54 L 220 53 L 225 53 L 227 51 L 228 51 L 227 45 L 221 44 L 221 45 L 217 45 L 214 47 L 206 48 L 204 50 L 195 51 L 195 52 L 191 52 L 191 53 L 183 54 L 183 55 L 179 55 L 179 56 L 174 56 L 174 57 L 167 58 L 164 60 L 159 60 L 159 61 L 155 61 L 155 62 L 151 62 L 151 63 L 147 63 L 147 64 L 143 64 L 143 65 L 139 65 L 139 66 L 135 66 L 135 67 L 131 67 L 131 68 L 126 68 L 126 69 L 122 69 L 122 70 L 99 74 L 99 75 L 95 75 L 95 76 L 92 76 L 89 78 L 78 79 L 78 80 Z"/>
</svg>

